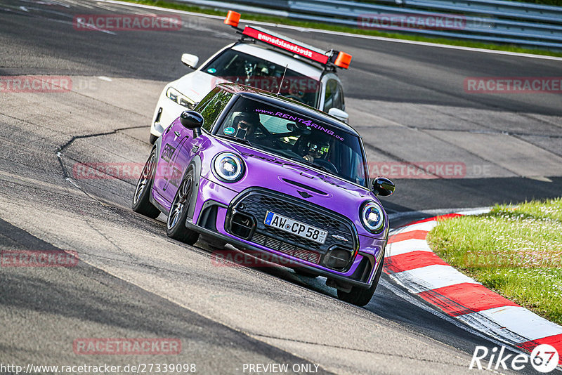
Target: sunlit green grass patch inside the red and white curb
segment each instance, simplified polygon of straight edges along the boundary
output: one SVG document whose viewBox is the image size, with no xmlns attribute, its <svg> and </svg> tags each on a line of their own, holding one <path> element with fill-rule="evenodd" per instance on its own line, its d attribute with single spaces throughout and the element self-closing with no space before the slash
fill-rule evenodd
<svg viewBox="0 0 562 375">
<path fill-rule="evenodd" d="M 562 198 L 443 221 L 428 242 L 485 287 L 562 324 Z"/>
</svg>

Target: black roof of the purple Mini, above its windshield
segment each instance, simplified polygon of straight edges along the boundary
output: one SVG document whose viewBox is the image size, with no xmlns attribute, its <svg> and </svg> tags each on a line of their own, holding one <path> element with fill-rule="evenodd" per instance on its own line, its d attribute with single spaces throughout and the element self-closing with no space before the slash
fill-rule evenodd
<svg viewBox="0 0 562 375">
<path fill-rule="evenodd" d="M 276 105 L 277 107 L 284 107 L 287 110 L 302 113 L 306 117 L 313 117 L 322 122 L 325 122 L 326 124 L 334 126 L 334 128 L 337 128 L 341 131 L 345 131 L 346 133 L 351 133 L 354 136 L 360 137 L 359 133 L 355 131 L 355 129 L 353 129 L 351 126 L 346 124 L 344 121 L 336 119 L 335 117 L 330 116 L 326 112 L 317 110 L 316 108 L 311 107 L 309 105 L 298 103 L 294 100 L 287 99 L 283 96 L 277 96 L 276 94 L 270 93 L 269 91 L 264 91 L 259 88 L 254 88 L 251 86 L 245 86 L 245 85 L 234 84 L 234 83 L 223 83 L 223 84 L 218 84 L 216 86 L 223 88 L 226 91 L 230 91 L 235 95 L 243 96 L 244 98 L 261 100 L 263 102 Z"/>
</svg>

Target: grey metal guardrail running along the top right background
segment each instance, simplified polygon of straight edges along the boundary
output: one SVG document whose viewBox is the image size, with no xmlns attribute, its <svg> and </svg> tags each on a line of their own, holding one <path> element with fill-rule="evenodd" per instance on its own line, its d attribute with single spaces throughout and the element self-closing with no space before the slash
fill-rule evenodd
<svg viewBox="0 0 562 375">
<path fill-rule="evenodd" d="M 379 0 L 377 4 L 351 0 L 176 0 L 185 3 L 296 20 L 406 32 L 433 37 L 562 49 L 562 7 L 504 0 Z M 462 27 L 382 26 L 381 20 L 457 18 Z"/>
</svg>

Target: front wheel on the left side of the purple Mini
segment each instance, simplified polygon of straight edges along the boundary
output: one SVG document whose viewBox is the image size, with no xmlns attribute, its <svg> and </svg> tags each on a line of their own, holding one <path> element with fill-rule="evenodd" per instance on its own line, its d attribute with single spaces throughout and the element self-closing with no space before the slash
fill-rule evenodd
<svg viewBox="0 0 562 375">
<path fill-rule="evenodd" d="M 190 168 L 183 177 L 183 180 L 181 180 L 166 220 L 166 235 L 188 245 L 195 244 L 199 238 L 199 233 L 185 228 L 185 221 L 188 219 L 189 204 L 195 183 L 194 179 L 195 173 Z"/>
</svg>

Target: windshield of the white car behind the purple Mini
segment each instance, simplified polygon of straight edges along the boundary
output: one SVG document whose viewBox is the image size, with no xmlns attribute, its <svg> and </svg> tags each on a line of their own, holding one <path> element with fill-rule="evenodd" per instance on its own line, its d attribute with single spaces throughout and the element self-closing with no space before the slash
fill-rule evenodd
<svg viewBox="0 0 562 375">
<path fill-rule="evenodd" d="M 320 93 L 320 82 L 316 79 L 290 69 L 285 72 L 283 65 L 230 48 L 202 67 L 201 70 L 221 77 L 225 81 L 261 88 L 272 93 L 277 93 L 281 84 L 280 94 L 282 96 L 312 107 L 316 107 Z M 285 78 L 283 78 L 284 73 Z"/>
</svg>

